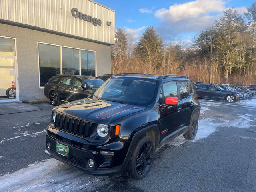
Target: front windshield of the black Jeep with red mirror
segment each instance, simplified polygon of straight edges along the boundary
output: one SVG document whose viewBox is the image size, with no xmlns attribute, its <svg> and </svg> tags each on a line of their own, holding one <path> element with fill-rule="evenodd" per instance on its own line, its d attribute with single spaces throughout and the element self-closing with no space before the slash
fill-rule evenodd
<svg viewBox="0 0 256 192">
<path fill-rule="evenodd" d="M 102 100 L 145 105 L 152 102 L 155 89 L 156 83 L 148 80 L 110 78 L 93 96 Z"/>
</svg>

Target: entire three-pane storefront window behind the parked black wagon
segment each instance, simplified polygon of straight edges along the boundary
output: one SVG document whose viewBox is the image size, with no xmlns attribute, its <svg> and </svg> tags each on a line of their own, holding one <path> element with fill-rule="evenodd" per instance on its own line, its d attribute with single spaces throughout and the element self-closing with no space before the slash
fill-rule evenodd
<svg viewBox="0 0 256 192">
<path fill-rule="evenodd" d="M 58 74 L 96 75 L 94 51 L 38 42 L 38 54 L 40 87 L 44 87 L 52 76 Z"/>
</svg>

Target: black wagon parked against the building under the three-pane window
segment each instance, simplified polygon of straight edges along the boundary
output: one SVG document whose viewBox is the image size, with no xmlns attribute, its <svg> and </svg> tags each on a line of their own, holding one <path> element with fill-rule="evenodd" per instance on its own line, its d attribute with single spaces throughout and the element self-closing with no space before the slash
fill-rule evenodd
<svg viewBox="0 0 256 192">
<path fill-rule="evenodd" d="M 57 75 L 44 86 L 44 95 L 52 105 L 86 98 L 93 94 L 103 80 L 92 76 Z"/>
</svg>

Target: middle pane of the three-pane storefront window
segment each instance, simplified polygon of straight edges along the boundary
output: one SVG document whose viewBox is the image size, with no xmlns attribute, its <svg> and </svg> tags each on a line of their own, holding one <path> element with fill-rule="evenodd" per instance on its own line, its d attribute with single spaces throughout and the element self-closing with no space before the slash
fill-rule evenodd
<svg viewBox="0 0 256 192">
<path fill-rule="evenodd" d="M 62 47 L 63 74 L 79 75 L 79 50 Z"/>
</svg>

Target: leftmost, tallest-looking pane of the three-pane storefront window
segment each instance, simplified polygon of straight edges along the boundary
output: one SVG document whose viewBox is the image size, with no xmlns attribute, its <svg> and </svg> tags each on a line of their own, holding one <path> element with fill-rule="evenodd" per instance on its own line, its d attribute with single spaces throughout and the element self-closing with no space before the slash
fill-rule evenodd
<svg viewBox="0 0 256 192">
<path fill-rule="evenodd" d="M 60 74 L 60 47 L 48 44 L 38 44 L 40 86 L 44 86 L 48 80 Z"/>
</svg>

